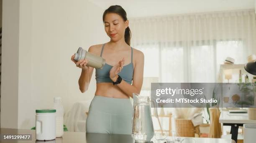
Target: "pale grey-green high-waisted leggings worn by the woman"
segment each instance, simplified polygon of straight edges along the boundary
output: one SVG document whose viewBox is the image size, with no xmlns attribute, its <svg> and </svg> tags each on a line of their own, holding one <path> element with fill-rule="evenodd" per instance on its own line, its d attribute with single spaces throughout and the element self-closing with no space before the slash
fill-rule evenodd
<svg viewBox="0 0 256 143">
<path fill-rule="evenodd" d="M 132 112 L 130 99 L 94 96 L 86 119 L 86 132 L 131 134 Z"/>
</svg>

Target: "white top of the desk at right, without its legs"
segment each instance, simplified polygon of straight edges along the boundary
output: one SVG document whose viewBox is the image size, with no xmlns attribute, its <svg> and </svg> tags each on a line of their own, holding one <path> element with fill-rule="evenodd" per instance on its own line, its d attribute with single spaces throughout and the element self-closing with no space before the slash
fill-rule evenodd
<svg viewBox="0 0 256 143">
<path fill-rule="evenodd" d="M 256 123 L 256 120 L 248 119 L 248 113 L 229 113 L 229 111 L 221 111 L 219 121 L 220 123 Z"/>
</svg>

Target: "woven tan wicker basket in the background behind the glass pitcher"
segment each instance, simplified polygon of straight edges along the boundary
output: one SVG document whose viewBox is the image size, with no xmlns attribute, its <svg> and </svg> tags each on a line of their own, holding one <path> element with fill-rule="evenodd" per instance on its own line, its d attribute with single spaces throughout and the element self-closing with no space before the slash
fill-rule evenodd
<svg viewBox="0 0 256 143">
<path fill-rule="evenodd" d="M 195 137 L 195 127 L 191 120 L 175 118 L 175 129 L 181 137 Z"/>
</svg>

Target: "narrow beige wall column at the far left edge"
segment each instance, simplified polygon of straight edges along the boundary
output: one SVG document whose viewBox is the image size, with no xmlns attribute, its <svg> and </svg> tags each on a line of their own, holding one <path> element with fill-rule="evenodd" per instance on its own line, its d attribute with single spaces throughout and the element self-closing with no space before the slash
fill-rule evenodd
<svg viewBox="0 0 256 143">
<path fill-rule="evenodd" d="M 18 126 L 19 0 L 3 0 L 1 128 Z"/>
</svg>

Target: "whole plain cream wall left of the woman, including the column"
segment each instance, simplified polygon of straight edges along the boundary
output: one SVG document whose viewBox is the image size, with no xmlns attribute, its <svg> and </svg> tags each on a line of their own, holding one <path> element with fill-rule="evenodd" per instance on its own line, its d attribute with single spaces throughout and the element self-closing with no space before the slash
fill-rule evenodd
<svg viewBox="0 0 256 143">
<path fill-rule="evenodd" d="M 10 27 L 11 31 L 3 33 L 1 128 L 31 128 L 35 110 L 51 108 L 54 96 L 62 97 L 64 111 L 77 101 L 93 98 L 95 74 L 89 90 L 81 93 L 81 70 L 70 59 L 78 47 L 88 49 L 108 42 L 108 37 L 102 23 L 104 10 L 87 0 L 4 0 L 3 6 L 14 2 L 17 7 L 5 9 L 3 15 L 3 29 Z M 13 11 L 16 25 L 10 25 L 14 18 L 8 12 Z M 11 43 L 16 44 L 7 47 Z M 18 54 L 16 59 L 7 56 L 13 51 Z"/>
</svg>

